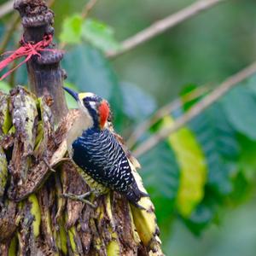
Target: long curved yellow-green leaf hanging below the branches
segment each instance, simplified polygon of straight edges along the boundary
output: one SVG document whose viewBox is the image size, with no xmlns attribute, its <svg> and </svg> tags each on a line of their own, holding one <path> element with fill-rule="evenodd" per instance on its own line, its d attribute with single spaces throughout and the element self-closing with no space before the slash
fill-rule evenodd
<svg viewBox="0 0 256 256">
<path fill-rule="evenodd" d="M 171 117 L 163 120 L 163 126 L 170 126 L 173 123 Z M 181 172 L 177 208 L 183 217 L 189 217 L 204 195 L 207 177 L 206 160 L 201 146 L 188 128 L 182 128 L 173 133 L 168 137 L 168 143 L 177 157 Z"/>
</svg>

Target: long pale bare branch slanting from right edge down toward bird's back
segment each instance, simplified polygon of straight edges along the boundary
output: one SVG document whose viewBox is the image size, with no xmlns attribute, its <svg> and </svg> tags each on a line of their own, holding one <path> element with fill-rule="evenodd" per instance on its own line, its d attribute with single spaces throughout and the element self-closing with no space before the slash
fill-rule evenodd
<svg viewBox="0 0 256 256">
<path fill-rule="evenodd" d="M 195 118 L 195 116 L 200 114 L 206 108 L 210 107 L 212 103 L 218 101 L 220 97 L 224 96 L 224 94 L 226 94 L 232 87 L 240 83 L 242 80 L 247 79 L 253 75 L 253 73 L 256 73 L 256 62 L 226 79 L 218 86 L 218 88 L 212 90 L 212 93 L 205 96 L 201 102 L 195 104 L 187 113 L 184 113 L 183 116 L 178 118 L 173 125 L 165 127 L 159 132 L 155 133 L 152 137 L 149 137 L 148 140 L 139 145 L 134 154 L 136 156 L 140 156 L 147 152 L 150 148 L 153 148 L 157 143 L 160 143 L 166 137 L 170 136 L 174 131 L 177 131 L 191 119 Z"/>
</svg>

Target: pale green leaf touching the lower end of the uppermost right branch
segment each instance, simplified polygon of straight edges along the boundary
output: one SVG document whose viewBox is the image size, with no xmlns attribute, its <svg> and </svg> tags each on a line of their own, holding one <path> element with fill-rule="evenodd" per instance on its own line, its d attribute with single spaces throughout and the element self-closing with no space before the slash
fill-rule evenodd
<svg viewBox="0 0 256 256">
<path fill-rule="evenodd" d="M 85 40 L 102 51 L 120 47 L 113 36 L 113 28 L 98 20 L 84 20 L 82 35 Z"/>
</svg>

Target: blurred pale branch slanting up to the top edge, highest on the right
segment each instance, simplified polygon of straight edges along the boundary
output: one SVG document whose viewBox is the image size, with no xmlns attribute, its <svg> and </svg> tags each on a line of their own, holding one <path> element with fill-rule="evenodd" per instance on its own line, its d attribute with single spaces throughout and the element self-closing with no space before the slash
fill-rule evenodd
<svg viewBox="0 0 256 256">
<path fill-rule="evenodd" d="M 106 53 L 106 56 L 108 58 L 113 58 L 117 55 L 122 55 L 126 51 L 147 42 L 148 40 L 158 36 L 162 32 L 166 32 L 167 29 L 176 26 L 184 20 L 188 20 L 189 18 L 197 15 L 201 11 L 210 9 L 214 5 L 222 3 L 224 1 L 226 0 L 199 0 L 195 3 L 192 3 L 189 7 L 186 7 L 173 15 L 169 15 L 163 20 L 156 21 L 153 25 L 148 26 L 143 31 L 138 32 L 131 38 L 126 39 L 122 42 L 120 49 L 110 50 Z"/>
</svg>

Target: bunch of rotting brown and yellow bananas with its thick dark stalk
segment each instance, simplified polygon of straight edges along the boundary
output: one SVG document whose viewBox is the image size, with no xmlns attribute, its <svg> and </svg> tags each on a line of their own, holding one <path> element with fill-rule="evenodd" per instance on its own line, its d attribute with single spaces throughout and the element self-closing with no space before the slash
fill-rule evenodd
<svg viewBox="0 0 256 256">
<path fill-rule="evenodd" d="M 26 42 L 53 34 L 53 13 L 43 1 L 17 0 L 15 9 Z M 67 113 L 62 54 L 41 55 L 27 63 L 32 92 L 0 92 L 0 255 L 162 255 L 148 198 L 140 201 L 144 211 L 115 192 L 91 197 L 96 208 L 61 196 L 89 190 L 79 169 L 61 160 L 79 113 Z M 133 172 L 143 189 L 135 166 Z"/>
</svg>

